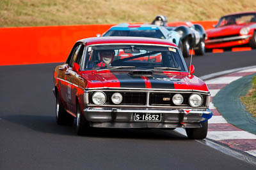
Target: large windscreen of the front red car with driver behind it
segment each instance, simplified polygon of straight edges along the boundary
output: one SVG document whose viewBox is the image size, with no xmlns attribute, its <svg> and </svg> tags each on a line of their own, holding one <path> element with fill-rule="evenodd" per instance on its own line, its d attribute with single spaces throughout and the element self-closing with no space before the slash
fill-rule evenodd
<svg viewBox="0 0 256 170">
<path fill-rule="evenodd" d="M 177 48 L 156 45 L 88 46 L 83 70 L 109 67 L 186 71 Z"/>
</svg>

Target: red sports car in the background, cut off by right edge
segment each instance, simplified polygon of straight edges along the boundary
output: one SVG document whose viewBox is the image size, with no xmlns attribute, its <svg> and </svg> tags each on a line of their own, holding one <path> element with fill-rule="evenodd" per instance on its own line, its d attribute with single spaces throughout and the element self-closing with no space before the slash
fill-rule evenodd
<svg viewBox="0 0 256 170">
<path fill-rule="evenodd" d="M 246 45 L 256 48 L 256 12 L 225 15 L 214 29 L 208 29 L 205 48 Z"/>
</svg>

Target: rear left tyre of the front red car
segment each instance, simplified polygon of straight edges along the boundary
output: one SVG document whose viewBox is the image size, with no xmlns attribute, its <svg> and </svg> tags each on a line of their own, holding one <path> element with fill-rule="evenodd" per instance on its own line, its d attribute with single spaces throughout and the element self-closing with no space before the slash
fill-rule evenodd
<svg viewBox="0 0 256 170">
<path fill-rule="evenodd" d="M 74 117 L 65 111 L 63 104 L 61 103 L 60 96 L 56 94 L 56 122 L 58 125 L 72 125 Z"/>
</svg>

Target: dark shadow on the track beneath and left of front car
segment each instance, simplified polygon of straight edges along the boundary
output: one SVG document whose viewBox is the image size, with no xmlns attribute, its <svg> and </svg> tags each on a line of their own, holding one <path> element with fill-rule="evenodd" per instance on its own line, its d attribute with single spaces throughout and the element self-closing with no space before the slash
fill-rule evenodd
<svg viewBox="0 0 256 170">
<path fill-rule="evenodd" d="M 72 127 L 57 125 L 55 117 L 38 115 L 8 115 L 2 117 L 3 120 L 22 125 L 33 131 L 61 134 L 67 136 L 77 136 L 74 125 Z M 124 138 L 124 139 L 157 139 L 157 140 L 183 140 L 186 136 L 172 130 L 163 129 L 106 129 L 93 128 L 92 131 L 84 135 L 90 138 Z"/>
</svg>

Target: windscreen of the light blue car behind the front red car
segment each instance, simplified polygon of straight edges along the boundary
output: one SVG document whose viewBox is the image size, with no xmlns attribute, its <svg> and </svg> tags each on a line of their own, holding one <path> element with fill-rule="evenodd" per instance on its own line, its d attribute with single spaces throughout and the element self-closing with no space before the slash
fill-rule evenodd
<svg viewBox="0 0 256 170">
<path fill-rule="evenodd" d="M 103 36 L 136 36 L 165 39 L 164 34 L 159 29 L 109 30 Z"/>
</svg>

